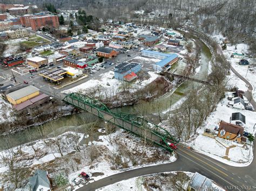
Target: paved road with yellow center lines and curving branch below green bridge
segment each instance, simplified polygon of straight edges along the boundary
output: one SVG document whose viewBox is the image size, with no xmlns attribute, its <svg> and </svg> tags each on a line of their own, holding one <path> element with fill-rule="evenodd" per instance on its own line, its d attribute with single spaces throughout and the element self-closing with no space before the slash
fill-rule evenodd
<svg viewBox="0 0 256 191">
<path fill-rule="evenodd" d="M 198 172 L 214 180 L 226 190 L 235 190 L 235 188 L 238 188 L 237 190 L 256 189 L 256 170 L 252 168 L 255 166 L 255 160 L 253 160 L 250 166 L 241 168 L 225 165 L 224 163 L 191 151 L 183 146 L 179 146 L 177 153 L 178 159 L 175 162 L 127 170 L 89 183 L 78 190 L 95 190 L 137 176 L 172 171 Z"/>
</svg>

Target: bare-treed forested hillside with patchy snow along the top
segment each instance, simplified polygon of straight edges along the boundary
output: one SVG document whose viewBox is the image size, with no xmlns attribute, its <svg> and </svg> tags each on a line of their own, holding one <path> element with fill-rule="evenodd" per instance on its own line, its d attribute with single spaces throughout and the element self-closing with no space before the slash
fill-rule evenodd
<svg viewBox="0 0 256 191">
<path fill-rule="evenodd" d="M 1 2 L 1 1 L 0 1 Z M 32 0 L 32 4 L 51 2 L 59 9 L 86 10 L 98 18 L 173 25 L 191 21 L 207 33 L 223 33 L 230 40 L 245 40 L 255 50 L 255 0 Z M 25 0 L 2 0 L 2 3 L 23 3 Z M 143 14 L 134 11 L 143 10 Z M 175 25 L 176 26 L 176 25 Z M 235 42 L 238 43 L 238 42 Z"/>
</svg>

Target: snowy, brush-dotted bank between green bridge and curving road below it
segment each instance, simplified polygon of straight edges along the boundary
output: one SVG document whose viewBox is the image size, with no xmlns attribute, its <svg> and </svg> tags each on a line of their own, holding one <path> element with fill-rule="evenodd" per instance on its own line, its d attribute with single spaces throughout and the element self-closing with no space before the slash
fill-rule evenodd
<svg viewBox="0 0 256 191">
<path fill-rule="evenodd" d="M 121 146 L 122 149 L 127 149 L 127 152 L 131 152 L 133 153 L 133 155 L 136 155 L 136 156 L 138 155 L 143 156 L 144 155 L 143 153 L 145 152 L 144 159 L 148 158 L 148 161 L 151 161 L 151 159 L 155 157 L 159 159 L 154 162 L 147 162 L 147 160 L 145 160 L 146 162 L 145 164 L 139 164 L 137 166 L 134 166 L 131 160 L 129 160 L 127 168 L 123 169 L 122 171 L 130 170 L 134 168 L 140 168 L 143 166 L 153 166 L 153 165 L 158 165 L 160 163 L 169 163 L 169 162 L 176 161 L 175 155 L 165 154 L 163 149 L 154 147 L 154 146 L 150 147 L 150 149 L 149 148 L 144 149 L 145 147 L 141 146 L 142 140 L 140 138 L 133 137 L 133 135 L 122 133 L 122 132 L 123 130 L 119 130 L 109 135 L 101 135 L 99 136 L 100 141 L 93 141 L 93 145 L 105 146 L 107 150 L 113 154 L 114 153 L 120 154 L 120 153 L 117 153 L 117 151 L 120 149 L 120 146 Z M 117 142 L 114 140 L 116 140 Z M 129 142 L 129 144 L 127 144 L 127 142 Z M 124 155 L 123 157 L 125 158 L 126 156 Z M 137 157 L 136 160 L 140 162 L 141 159 Z M 79 169 L 77 172 L 70 174 L 69 175 L 70 183 L 74 178 L 77 178 L 77 175 L 82 171 L 87 172 L 89 173 L 89 175 L 91 175 L 91 178 L 92 178 L 91 181 L 103 179 L 106 176 L 110 176 L 112 174 L 116 174 L 120 172 L 120 170 L 113 169 L 112 163 L 107 159 L 98 160 L 96 162 L 93 162 L 92 165 L 84 166 L 82 169 Z M 97 176 L 92 176 L 93 173 L 102 173 L 102 174 Z M 79 186 L 75 187 L 75 189 L 77 188 L 79 188 Z"/>
</svg>

